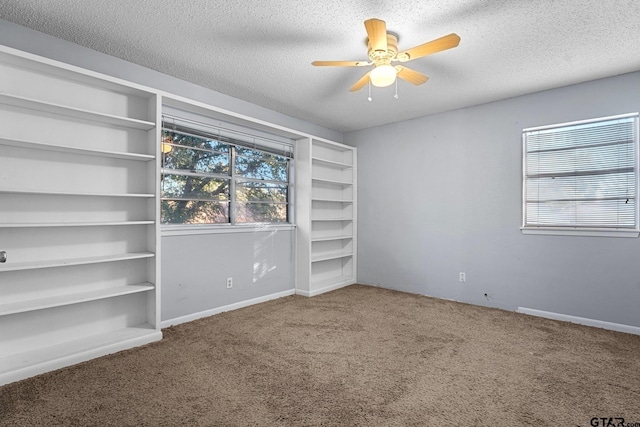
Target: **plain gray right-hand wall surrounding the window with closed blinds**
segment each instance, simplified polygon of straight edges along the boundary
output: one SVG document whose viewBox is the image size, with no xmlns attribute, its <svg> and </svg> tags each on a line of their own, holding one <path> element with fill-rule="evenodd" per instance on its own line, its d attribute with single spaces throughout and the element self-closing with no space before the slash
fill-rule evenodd
<svg viewBox="0 0 640 427">
<path fill-rule="evenodd" d="M 523 128 L 639 110 L 633 73 L 346 134 L 358 281 L 640 326 L 639 239 L 519 229 Z"/>
</svg>

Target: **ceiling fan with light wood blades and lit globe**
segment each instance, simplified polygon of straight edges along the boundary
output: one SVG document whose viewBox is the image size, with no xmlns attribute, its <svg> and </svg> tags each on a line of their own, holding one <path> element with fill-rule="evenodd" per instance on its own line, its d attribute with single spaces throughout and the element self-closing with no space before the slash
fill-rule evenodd
<svg viewBox="0 0 640 427">
<path fill-rule="evenodd" d="M 311 64 L 316 67 L 366 67 L 373 68 L 360 78 L 351 89 L 351 92 L 360 90 L 369 81 L 377 87 L 385 87 L 393 84 L 396 77 L 406 80 L 414 85 L 425 83 L 429 77 L 402 65 L 391 65 L 392 62 L 407 62 L 443 50 L 451 49 L 460 43 L 460 37 L 449 34 L 439 39 L 421 44 L 411 49 L 398 52 L 398 36 L 387 31 L 387 24 L 380 19 L 367 19 L 364 21 L 367 30 L 367 47 L 370 61 L 314 61 Z"/>
</svg>

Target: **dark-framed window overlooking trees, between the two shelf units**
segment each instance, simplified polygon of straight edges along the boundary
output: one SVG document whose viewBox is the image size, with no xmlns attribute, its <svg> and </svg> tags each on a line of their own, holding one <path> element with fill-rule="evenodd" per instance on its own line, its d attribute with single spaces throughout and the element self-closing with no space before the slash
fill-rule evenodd
<svg viewBox="0 0 640 427">
<path fill-rule="evenodd" d="M 292 146 L 163 121 L 163 224 L 287 223 Z"/>
</svg>

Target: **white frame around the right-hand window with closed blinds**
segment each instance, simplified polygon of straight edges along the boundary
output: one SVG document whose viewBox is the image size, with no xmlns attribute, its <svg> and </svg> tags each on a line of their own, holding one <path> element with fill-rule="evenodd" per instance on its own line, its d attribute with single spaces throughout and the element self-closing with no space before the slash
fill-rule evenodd
<svg viewBox="0 0 640 427">
<path fill-rule="evenodd" d="M 527 135 L 551 129 L 562 129 L 581 124 L 604 122 L 622 118 L 634 118 L 634 177 L 635 177 L 635 225 L 633 227 L 588 227 L 588 226 L 553 226 L 553 225 L 531 225 L 527 224 Z M 639 142 L 638 142 L 638 113 L 621 114 L 616 116 L 601 117 L 589 120 L 560 123 L 548 126 L 526 128 L 522 131 L 522 227 L 523 234 L 547 234 L 547 235 L 572 235 L 572 236 L 602 236 L 602 237 L 638 237 L 640 235 L 638 215 L 640 203 L 638 201 L 638 173 L 639 173 Z"/>
</svg>

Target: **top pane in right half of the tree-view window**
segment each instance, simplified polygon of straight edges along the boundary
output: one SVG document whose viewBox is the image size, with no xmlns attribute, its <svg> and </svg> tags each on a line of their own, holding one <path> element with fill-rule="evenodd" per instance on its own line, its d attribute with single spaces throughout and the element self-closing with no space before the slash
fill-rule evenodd
<svg viewBox="0 0 640 427">
<path fill-rule="evenodd" d="M 286 157 L 258 150 L 238 147 L 236 173 L 240 176 L 270 181 L 287 182 L 288 160 Z"/>
</svg>

